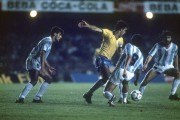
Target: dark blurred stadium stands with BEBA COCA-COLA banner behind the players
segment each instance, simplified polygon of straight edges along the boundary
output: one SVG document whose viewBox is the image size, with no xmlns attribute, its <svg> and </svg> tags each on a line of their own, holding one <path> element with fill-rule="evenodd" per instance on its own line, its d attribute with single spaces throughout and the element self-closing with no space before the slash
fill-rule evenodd
<svg viewBox="0 0 180 120">
<path fill-rule="evenodd" d="M 77 24 L 82 19 L 109 29 L 119 19 L 127 21 L 125 42 L 134 33 L 142 34 L 145 56 L 165 29 L 174 33 L 173 40 L 179 46 L 180 0 L 1 0 L 0 6 L 0 84 L 29 80 L 25 59 L 55 25 L 62 27 L 65 34 L 48 58 L 57 69 L 54 81 L 95 81 L 98 75 L 93 54 L 100 46 L 101 35 L 79 29 Z M 31 10 L 37 15 L 30 16 Z M 147 18 L 147 12 L 152 12 L 153 17 Z M 114 64 L 116 60 L 117 55 Z M 164 82 L 162 78 L 155 81 Z"/>
</svg>

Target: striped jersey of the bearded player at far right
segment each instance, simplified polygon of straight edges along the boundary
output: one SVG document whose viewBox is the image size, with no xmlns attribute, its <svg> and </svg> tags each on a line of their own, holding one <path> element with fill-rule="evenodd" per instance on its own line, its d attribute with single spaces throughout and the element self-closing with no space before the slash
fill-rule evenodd
<svg viewBox="0 0 180 120">
<path fill-rule="evenodd" d="M 163 47 L 161 43 L 156 43 L 149 52 L 150 56 L 154 56 L 155 66 L 173 66 L 177 54 L 178 46 L 174 43 L 171 43 L 168 49 Z"/>
</svg>

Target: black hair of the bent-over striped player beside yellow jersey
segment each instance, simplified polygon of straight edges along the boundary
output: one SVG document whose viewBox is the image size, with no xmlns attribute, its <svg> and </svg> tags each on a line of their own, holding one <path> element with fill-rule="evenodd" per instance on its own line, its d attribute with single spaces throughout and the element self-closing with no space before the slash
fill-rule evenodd
<svg viewBox="0 0 180 120">
<path fill-rule="evenodd" d="M 137 47 L 142 45 L 142 36 L 140 34 L 134 34 L 131 38 L 131 43 Z"/>
</svg>

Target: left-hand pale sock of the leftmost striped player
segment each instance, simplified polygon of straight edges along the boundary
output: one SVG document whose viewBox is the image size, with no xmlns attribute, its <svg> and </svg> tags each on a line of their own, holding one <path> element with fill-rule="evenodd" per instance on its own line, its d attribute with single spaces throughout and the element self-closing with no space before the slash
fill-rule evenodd
<svg viewBox="0 0 180 120">
<path fill-rule="evenodd" d="M 26 84 L 23 91 L 19 95 L 19 98 L 25 98 L 28 95 L 28 93 L 31 91 L 32 88 L 33 88 L 33 85 L 31 83 Z"/>
</svg>

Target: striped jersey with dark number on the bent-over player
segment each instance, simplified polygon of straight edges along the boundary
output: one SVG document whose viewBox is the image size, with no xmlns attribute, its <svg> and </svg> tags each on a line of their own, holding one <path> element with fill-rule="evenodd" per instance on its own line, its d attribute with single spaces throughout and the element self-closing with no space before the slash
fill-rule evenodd
<svg viewBox="0 0 180 120">
<path fill-rule="evenodd" d="M 138 47 L 136 47 L 135 45 L 132 45 L 130 43 L 126 44 L 125 47 L 124 47 L 124 50 L 123 50 L 123 54 L 125 56 L 127 55 L 131 55 L 132 56 L 132 60 L 127 68 L 127 71 L 131 72 L 131 73 L 134 73 L 136 71 L 136 69 L 142 69 L 143 68 L 143 60 L 144 60 L 144 57 L 143 57 L 143 54 L 142 52 L 139 50 Z M 123 55 L 122 55 L 123 56 Z M 124 57 L 125 58 L 125 57 Z M 122 69 L 125 68 L 125 65 L 126 65 L 126 59 L 124 59 L 122 62 L 121 62 L 122 59 L 119 59 L 119 62 L 121 65 L 120 67 Z"/>
</svg>

